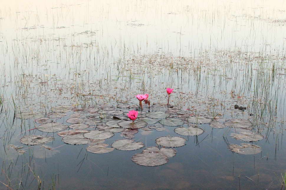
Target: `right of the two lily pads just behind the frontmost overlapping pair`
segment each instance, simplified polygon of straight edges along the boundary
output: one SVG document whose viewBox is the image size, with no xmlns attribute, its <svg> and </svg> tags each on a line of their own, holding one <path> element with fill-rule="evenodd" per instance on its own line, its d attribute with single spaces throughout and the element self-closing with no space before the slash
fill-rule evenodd
<svg viewBox="0 0 286 190">
<path fill-rule="evenodd" d="M 183 137 L 158 137 L 155 140 L 157 145 L 161 145 L 164 147 L 182 147 L 186 143 L 186 139 Z"/>
</svg>

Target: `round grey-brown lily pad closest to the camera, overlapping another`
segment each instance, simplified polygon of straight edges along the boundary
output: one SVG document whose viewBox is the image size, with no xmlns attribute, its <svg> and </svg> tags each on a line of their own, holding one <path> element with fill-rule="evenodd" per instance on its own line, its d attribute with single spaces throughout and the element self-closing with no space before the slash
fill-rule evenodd
<svg viewBox="0 0 286 190">
<path fill-rule="evenodd" d="M 166 164 L 167 156 L 157 152 L 142 152 L 132 156 L 132 161 L 141 166 L 160 166 Z"/>
</svg>

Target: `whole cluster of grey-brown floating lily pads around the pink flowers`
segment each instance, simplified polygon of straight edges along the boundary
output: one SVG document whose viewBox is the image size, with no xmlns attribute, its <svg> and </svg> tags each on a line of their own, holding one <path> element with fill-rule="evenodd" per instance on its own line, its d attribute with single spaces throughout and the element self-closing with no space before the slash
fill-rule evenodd
<svg viewBox="0 0 286 190">
<path fill-rule="evenodd" d="M 140 107 L 142 104 L 140 104 Z M 159 108 L 159 107 L 158 107 Z M 139 109 L 139 111 L 130 109 Z M 221 115 L 190 115 L 189 112 L 178 110 L 174 107 L 161 107 L 162 111 L 140 110 L 137 105 L 119 104 L 116 106 L 105 104 L 98 107 L 87 107 L 85 109 L 73 106 L 59 105 L 52 107 L 52 113 L 47 115 L 41 113 L 22 112 L 16 115 L 20 119 L 32 119 L 38 123 L 36 128 L 30 130 L 40 130 L 42 132 L 54 133 L 62 137 L 66 144 L 89 144 L 87 151 L 100 154 L 111 152 L 114 149 L 132 151 L 143 148 L 143 142 L 135 142 L 135 134 L 142 131 L 164 131 L 166 127 L 175 127 L 174 132 L 182 136 L 196 136 L 204 132 L 199 127 L 200 124 L 209 124 L 213 128 L 234 127 L 241 129 L 239 134 L 231 134 L 235 139 L 255 142 L 263 139 L 261 134 L 251 132 L 252 124 L 248 120 L 231 119 L 222 123 Z M 57 122 L 59 118 L 70 114 L 65 125 Z M 136 112 L 136 113 L 134 113 Z M 135 115 L 134 115 L 135 114 Z M 115 133 L 121 133 L 124 139 L 118 139 L 109 144 L 104 144 L 104 140 L 111 138 Z M 26 145 L 46 144 L 53 141 L 54 137 L 42 135 L 23 136 L 20 142 Z M 155 140 L 157 147 L 147 147 L 142 153 L 132 156 L 132 161 L 142 166 L 158 166 L 168 162 L 170 157 L 176 155 L 174 147 L 181 147 L 186 144 L 187 139 L 179 136 L 163 136 Z M 166 148 L 168 147 L 168 148 Z M 44 147 L 45 148 L 45 147 Z M 257 154 L 261 152 L 261 147 L 253 144 L 243 143 L 241 146 L 229 144 L 228 148 L 239 154 Z M 14 147 L 17 151 L 17 147 Z M 46 148 L 48 149 L 48 148 Z M 52 148 L 50 148 L 52 150 Z M 17 151 L 18 152 L 18 151 Z M 24 154 L 24 152 L 18 152 Z"/>
</svg>

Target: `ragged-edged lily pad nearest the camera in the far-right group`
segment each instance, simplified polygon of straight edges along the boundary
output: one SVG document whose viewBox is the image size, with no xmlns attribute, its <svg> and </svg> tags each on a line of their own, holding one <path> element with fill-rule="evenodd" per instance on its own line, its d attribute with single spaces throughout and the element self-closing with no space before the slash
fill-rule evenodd
<svg viewBox="0 0 286 190">
<path fill-rule="evenodd" d="M 240 145 L 241 146 L 237 144 L 229 144 L 228 149 L 237 154 L 245 154 L 245 155 L 258 154 L 262 151 L 261 147 L 254 144 L 241 143 Z"/>
</svg>

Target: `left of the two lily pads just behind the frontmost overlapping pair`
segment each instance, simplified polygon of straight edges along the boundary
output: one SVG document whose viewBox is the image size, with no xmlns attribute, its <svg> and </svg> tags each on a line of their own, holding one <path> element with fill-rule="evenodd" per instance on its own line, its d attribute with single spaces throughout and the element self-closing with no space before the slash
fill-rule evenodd
<svg viewBox="0 0 286 190">
<path fill-rule="evenodd" d="M 144 147 L 144 143 L 134 142 L 131 139 L 119 139 L 114 141 L 111 146 L 118 150 L 137 150 Z"/>
</svg>

